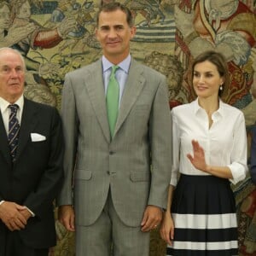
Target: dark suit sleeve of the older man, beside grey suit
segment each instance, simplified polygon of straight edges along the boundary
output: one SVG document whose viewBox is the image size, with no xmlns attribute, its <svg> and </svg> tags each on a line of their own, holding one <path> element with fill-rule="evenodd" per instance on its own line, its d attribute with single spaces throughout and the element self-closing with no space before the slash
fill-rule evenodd
<svg viewBox="0 0 256 256">
<path fill-rule="evenodd" d="M 49 136 L 49 158 L 43 175 L 35 191 L 27 196 L 24 205 L 40 218 L 44 211 L 52 206 L 56 195 L 61 189 L 63 179 L 63 134 L 61 117 L 55 108 L 49 108 L 50 136 Z M 42 117 L 43 118 L 43 117 Z"/>
</svg>

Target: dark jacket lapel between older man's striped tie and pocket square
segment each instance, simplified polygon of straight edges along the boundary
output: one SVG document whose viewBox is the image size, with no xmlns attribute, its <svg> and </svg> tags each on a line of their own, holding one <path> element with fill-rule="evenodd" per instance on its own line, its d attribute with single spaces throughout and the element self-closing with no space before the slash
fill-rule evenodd
<svg viewBox="0 0 256 256">
<path fill-rule="evenodd" d="M 26 143 L 30 139 L 30 133 L 31 131 L 33 131 L 33 127 L 36 125 L 36 113 L 37 108 L 32 105 L 32 102 L 24 98 L 24 108 L 20 125 L 19 144 L 16 153 L 17 160 L 19 159 L 22 151 L 25 149 Z"/>
</svg>

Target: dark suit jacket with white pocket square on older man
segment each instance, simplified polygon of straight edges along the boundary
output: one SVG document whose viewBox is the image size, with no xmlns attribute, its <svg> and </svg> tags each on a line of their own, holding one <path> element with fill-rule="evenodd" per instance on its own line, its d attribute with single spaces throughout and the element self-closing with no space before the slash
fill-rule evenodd
<svg viewBox="0 0 256 256">
<path fill-rule="evenodd" d="M 32 142 L 32 133 L 46 139 Z M 19 231 L 21 239 L 30 247 L 55 245 L 53 201 L 61 187 L 62 153 L 61 119 L 57 110 L 25 98 L 17 160 L 12 165 L 0 114 L 0 201 L 14 201 L 36 214 Z M 0 247 L 6 229 L 0 221 Z"/>
</svg>

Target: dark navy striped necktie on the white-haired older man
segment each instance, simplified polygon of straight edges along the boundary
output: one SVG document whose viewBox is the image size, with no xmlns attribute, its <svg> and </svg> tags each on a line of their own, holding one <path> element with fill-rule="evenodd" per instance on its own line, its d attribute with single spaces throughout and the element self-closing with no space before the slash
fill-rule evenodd
<svg viewBox="0 0 256 256">
<path fill-rule="evenodd" d="M 10 149 L 12 161 L 15 162 L 16 149 L 18 147 L 18 137 L 19 137 L 19 131 L 20 131 L 20 125 L 16 117 L 19 106 L 14 104 L 14 105 L 9 105 L 8 108 L 10 108 L 9 132 L 8 132 L 9 149 Z"/>
</svg>

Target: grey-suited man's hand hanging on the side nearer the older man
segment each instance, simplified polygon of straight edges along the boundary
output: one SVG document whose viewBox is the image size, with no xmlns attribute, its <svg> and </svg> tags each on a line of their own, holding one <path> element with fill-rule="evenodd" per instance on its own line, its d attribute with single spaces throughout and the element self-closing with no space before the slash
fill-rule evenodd
<svg viewBox="0 0 256 256">
<path fill-rule="evenodd" d="M 58 219 L 68 231 L 75 231 L 74 211 L 72 206 L 61 206 L 58 209 Z"/>
</svg>

